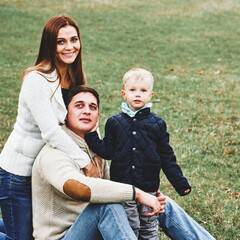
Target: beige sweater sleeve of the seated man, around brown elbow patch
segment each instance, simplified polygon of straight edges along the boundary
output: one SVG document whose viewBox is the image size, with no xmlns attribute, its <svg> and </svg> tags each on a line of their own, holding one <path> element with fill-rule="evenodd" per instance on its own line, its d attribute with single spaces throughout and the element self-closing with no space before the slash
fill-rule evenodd
<svg viewBox="0 0 240 240">
<path fill-rule="evenodd" d="M 90 202 L 92 203 L 123 202 L 133 199 L 131 185 L 86 177 L 69 156 L 57 149 L 49 149 L 38 157 L 40 172 L 47 182 L 63 194 L 65 194 L 64 183 L 69 179 L 74 179 L 90 188 Z"/>
</svg>

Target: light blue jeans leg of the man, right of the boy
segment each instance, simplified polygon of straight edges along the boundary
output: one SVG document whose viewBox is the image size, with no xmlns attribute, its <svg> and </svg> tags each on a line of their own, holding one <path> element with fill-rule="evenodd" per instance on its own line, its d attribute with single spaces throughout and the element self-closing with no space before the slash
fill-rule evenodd
<svg viewBox="0 0 240 240">
<path fill-rule="evenodd" d="M 213 240 L 177 203 L 166 197 L 165 213 L 158 217 L 159 226 L 172 240 Z"/>
</svg>

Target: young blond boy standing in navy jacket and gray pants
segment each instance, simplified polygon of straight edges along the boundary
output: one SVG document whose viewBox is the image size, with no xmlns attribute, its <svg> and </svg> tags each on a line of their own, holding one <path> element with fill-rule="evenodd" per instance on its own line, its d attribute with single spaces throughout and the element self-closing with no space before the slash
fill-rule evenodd
<svg viewBox="0 0 240 240">
<path fill-rule="evenodd" d="M 176 163 L 166 123 L 150 112 L 153 81 L 147 70 L 128 71 L 123 77 L 122 96 L 126 102 L 122 103 L 122 112 L 107 120 L 103 140 L 96 131 L 86 134 L 85 140 L 100 157 L 112 159 L 111 180 L 135 185 L 155 195 L 162 169 L 183 196 L 190 193 L 191 187 Z M 157 216 L 146 216 L 147 206 L 130 201 L 124 203 L 124 208 L 140 239 L 158 239 Z"/>
</svg>

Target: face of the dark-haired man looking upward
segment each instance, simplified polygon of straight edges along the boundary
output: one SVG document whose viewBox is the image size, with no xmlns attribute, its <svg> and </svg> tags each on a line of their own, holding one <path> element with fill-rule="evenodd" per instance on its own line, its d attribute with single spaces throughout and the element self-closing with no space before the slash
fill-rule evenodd
<svg viewBox="0 0 240 240">
<path fill-rule="evenodd" d="M 99 118 L 96 97 L 90 92 L 81 92 L 72 98 L 66 116 L 67 127 L 81 137 L 89 132 Z"/>
</svg>

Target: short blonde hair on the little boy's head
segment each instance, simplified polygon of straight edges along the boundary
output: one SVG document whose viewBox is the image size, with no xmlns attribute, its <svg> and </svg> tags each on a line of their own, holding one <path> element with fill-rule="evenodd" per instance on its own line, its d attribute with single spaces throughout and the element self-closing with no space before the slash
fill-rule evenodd
<svg viewBox="0 0 240 240">
<path fill-rule="evenodd" d="M 145 69 L 132 68 L 131 70 L 127 71 L 123 76 L 123 89 L 125 89 L 125 85 L 129 79 L 134 79 L 134 81 L 148 80 L 150 83 L 151 91 L 153 89 L 153 75 Z"/>
</svg>

